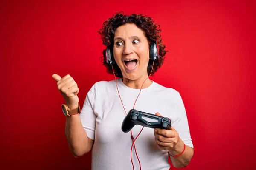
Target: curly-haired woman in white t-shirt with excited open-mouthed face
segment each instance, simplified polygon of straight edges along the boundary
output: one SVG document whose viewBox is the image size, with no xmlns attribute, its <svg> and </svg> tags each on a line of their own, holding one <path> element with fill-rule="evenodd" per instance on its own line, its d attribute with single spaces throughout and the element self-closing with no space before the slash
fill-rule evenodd
<svg viewBox="0 0 256 170">
<path fill-rule="evenodd" d="M 158 25 L 143 14 L 118 13 L 105 21 L 99 31 L 107 46 L 102 62 L 107 72 L 119 79 L 96 82 L 87 93 L 81 113 L 79 88 L 73 78 L 52 75 L 65 99 L 64 113 L 68 109 L 73 112 L 65 126 L 70 150 L 79 157 L 93 149 L 93 170 L 169 170 L 168 156 L 175 167 L 187 166 L 193 156 L 179 92 L 149 79 L 166 54 L 159 33 Z M 169 117 L 171 130 L 135 125 L 132 134 L 122 132 L 122 121 L 133 108 Z"/>
</svg>

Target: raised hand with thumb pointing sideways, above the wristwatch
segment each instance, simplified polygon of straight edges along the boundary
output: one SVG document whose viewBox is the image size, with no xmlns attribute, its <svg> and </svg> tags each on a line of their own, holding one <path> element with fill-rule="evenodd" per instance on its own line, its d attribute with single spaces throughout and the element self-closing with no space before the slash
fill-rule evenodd
<svg viewBox="0 0 256 170">
<path fill-rule="evenodd" d="M 61 92 L 67 106 L 70 109 L 78 107 L 79 98 L 77 96 L 79 88 L 75 80 L 67 74 L 61 78 L 58 74 L 53 74 L 52 78 L 56 80 L 59 91 Z"/>
</svg>

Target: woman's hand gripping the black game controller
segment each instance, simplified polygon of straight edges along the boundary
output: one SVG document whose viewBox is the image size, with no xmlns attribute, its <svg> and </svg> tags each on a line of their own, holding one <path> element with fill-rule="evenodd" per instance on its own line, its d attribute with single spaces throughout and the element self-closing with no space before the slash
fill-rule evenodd
<svg viewBox="0 0 256 170">
<path fill-rule="evenodd" d="M 156 113 L 157 116 L 161 116 Z M 155 128 L 154 130 L 155 141 L 162 150 L 175 150 L 180 142 L 179 133 L 171 127 L 171 130 Z"/>
</svg>

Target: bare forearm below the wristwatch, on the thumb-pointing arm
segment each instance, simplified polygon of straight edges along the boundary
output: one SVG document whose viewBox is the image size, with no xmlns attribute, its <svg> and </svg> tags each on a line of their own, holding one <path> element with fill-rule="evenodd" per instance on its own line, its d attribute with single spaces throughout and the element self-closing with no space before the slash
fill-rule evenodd
<svg viewBox="0 0 256 170">
<path fill-rule="evenodd" d="M 79 114 L 67 116 L 65 135 L 73 156 L 78 157 L 87 153 L 88 138 Z"/>
</svg>

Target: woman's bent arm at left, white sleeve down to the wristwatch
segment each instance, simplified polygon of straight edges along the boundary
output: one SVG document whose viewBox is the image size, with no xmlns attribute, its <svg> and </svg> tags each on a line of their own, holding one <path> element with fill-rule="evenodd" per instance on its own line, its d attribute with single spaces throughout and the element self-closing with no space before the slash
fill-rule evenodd
<svg viewBox="0 0 256 170">
<path fill-rule="evenodd" d="M 94 114 L 95 85 L 86 95 L 80 114 L 67 117 L 65 134 L 70 150 L 75 157 L 90 152 L 94 144 L 96 115 Z M 77 108 L 76 106 L 71 106 Z"/>
</svg>

